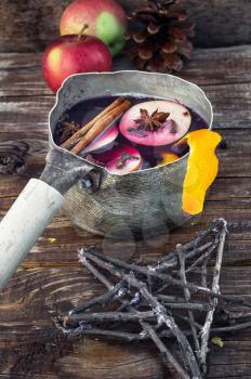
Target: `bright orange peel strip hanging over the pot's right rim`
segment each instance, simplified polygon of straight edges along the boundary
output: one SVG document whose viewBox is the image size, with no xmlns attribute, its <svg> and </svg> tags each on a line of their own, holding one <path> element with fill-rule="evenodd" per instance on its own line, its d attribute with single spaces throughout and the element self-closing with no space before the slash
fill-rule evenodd
<svg viewBox="0 0 251 379">
<path fill-rule="evenodd" d="M 203 210 L 207 190 L 219 170 L 215 148 L 221 140 L 219 133 L 200 129 L 188 133 L 179 142 L 187 142 L 190 148 L 182 196 L 183 211 L 188 214 L 198 214 Z"/>
</svg>

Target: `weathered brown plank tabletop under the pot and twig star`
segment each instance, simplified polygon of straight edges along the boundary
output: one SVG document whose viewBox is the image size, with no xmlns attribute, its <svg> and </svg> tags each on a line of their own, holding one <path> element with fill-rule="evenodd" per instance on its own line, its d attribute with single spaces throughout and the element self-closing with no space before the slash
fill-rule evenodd
<svg viewBox="0 0 251 379">
<path fill-rule="evenodd" d="M 83 270 L 77 249 L 97 243 L 105 253 L 150 261 L 189 240 L 217 217 L 228 221 L 222 292 L 251 297 L 251 47 L 197 50 L 182 77 L 211 99 L 214 126 L 227 142 L 203 215 L 191 227 L 144 243 L 119 244 L 77 233 L 58 213 L 0 295 L 0 378 L 168 378 L 150 342 L 76 338 L 55 330 L 52 314 L 97 295 L 102 286 Z M 40 55 L 0 55 L 0 141 L 29 144 L 26 168 L 0 177 L 0 217 L 29 178 L 38 178 L 48 148 L 48 113 L 55 97 L 44 86 Z M 50 243 L 54 237 L 56 241 Z M 251 330 L 225 338 L 209 356 L 209 378 L 251 378 Z"/>
</svg>

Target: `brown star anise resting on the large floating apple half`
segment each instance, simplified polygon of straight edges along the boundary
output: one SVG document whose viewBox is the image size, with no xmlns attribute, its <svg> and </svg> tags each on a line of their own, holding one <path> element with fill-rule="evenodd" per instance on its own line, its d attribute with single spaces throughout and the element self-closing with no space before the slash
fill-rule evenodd
<svg viewBox="0 0 251 379">
<path fill-rule="evenodd" d="M 141 117 L 135 120 L 138 125 L 138 130 L 149 130 L 155 131 L 163 126 L 163 122 L 169 117 L 170 113 L 158 112 L 156 109 L 151 115 L 149 115 L 147 109 L 140 109 Z"/>
</svg>

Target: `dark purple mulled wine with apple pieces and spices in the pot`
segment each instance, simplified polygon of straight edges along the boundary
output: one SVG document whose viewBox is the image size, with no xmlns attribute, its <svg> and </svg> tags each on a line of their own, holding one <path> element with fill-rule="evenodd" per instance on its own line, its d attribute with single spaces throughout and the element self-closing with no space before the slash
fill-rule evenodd
<svg viewBox="0 0 251 379">
<path fill-rule="evenodd" d="M 126 94 L 77 103 L 62 115 L 54 141 L 124 174 L 177 160 L 189 149 L 183 138 L 198 129 L 208 129 L 207 122 L 176 100 Z"/>
</svg>

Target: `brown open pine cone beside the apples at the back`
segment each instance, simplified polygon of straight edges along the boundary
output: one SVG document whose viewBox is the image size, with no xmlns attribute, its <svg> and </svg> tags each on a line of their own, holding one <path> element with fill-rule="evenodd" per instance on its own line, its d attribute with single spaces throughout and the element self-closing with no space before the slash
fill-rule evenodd
<svg viewBox="0 0 251 379">
<path fill-rule="evenodd" d="M 171 73 L 189 58 L 195 24 L 175 5 L 179 0 L 147 1 L 130 16 L 133 30 L 127 35 L 128 56 L 138 69 Z"/>
</svg>

